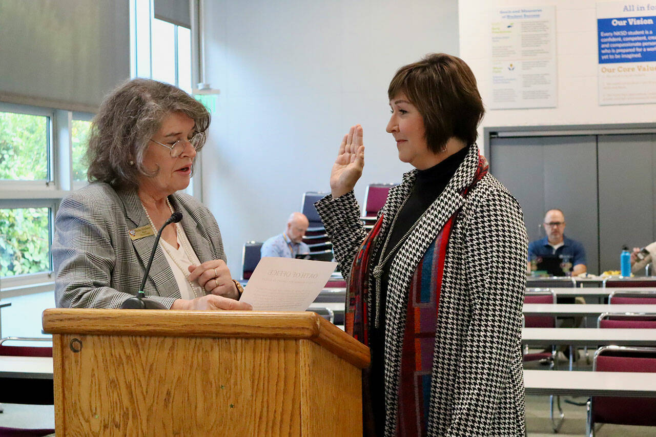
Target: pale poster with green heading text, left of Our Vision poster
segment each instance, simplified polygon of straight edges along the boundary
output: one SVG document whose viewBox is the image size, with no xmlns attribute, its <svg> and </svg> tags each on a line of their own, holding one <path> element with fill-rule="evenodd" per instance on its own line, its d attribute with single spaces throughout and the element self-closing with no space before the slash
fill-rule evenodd
<svg viewBox="0 0 656 437">
<path fill-rule="evenodd" d="M 508 7 L 491 16 L 492 109 L 556 106 L 556 7 Z"/>
</svg>

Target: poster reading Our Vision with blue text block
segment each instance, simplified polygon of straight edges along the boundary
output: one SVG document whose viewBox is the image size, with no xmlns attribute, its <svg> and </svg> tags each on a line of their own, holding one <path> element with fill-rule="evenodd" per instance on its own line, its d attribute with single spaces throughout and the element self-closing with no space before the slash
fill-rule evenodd
<svg viewBox="0 0 656 437">
<path fill-rule="evenodd" d="M 656 102 L 656 4 L 597 3 L 599 104 Z"/>
</svg>

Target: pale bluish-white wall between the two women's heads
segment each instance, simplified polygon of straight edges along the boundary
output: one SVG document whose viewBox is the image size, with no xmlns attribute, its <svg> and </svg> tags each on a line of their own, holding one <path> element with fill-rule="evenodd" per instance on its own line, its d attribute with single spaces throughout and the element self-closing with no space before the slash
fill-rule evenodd
<svg viewBox="0 0 656 437">
<path fill-rule="evenodd" d="M 344 133 L 361 123 L 370 182 L 398 182 L 385 132 L 397 68 L 458 54 L 455 0 L 206 1 L 207 79 L 221 90 L 203 149 L 203 201 L 234 277 L 241 247 L 281 232 L 303 192 L 329 190 Z"/>
</svg>

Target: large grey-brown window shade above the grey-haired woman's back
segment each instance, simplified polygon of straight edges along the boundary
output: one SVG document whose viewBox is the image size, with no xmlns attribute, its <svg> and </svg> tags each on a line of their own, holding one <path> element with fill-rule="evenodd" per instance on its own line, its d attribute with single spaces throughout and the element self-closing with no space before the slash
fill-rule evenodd
<svg viewBox="0 0 656 437">
<path fill-rule="evenodd" d="M 0 100 L 95 112 L 130 75 L 127 0 L 0 1 Z"/>
</svg>

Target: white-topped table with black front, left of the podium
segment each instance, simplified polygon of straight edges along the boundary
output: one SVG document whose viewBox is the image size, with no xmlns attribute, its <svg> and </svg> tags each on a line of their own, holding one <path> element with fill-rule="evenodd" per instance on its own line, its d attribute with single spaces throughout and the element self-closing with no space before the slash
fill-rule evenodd
<svg viewBox="0 0 656 437">
<path fill-rule="evenodd" d="M 0 402 L 54 404 L 52 358 L 0 356 Z"/>
</svg>

